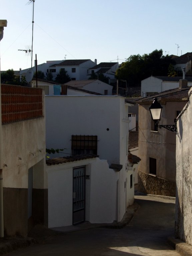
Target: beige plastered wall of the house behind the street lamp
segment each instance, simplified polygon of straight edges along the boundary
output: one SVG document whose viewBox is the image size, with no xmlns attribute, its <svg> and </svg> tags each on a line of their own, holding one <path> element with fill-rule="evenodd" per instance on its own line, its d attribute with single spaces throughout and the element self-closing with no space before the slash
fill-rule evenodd
<svg viewBox="0 0 192 256">
<path fill-rule="evenodd" d="M 162 103 L 161 103 L 162 104 Z M 163 106 L 159 124 L 174 124 L 176 111 L 181 110 L 185 102 L 166 102 Z M 151 131 L 150 105 L 139 105 L 139 163 L 138 170 L 149 173 L 149 158 L 156 158 L 157 177 L 175 181 L 176 176 L 176 133 L 165 128 Z"/>
</svg>

